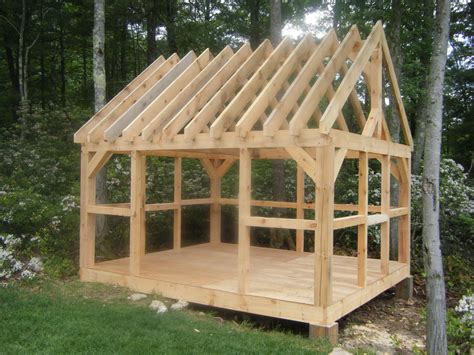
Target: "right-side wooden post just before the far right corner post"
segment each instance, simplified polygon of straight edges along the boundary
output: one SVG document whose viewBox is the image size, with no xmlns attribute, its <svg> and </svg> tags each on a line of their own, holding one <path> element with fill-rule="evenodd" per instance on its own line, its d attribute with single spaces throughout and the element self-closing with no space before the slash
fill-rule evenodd
<svg viewBox="0 0 474 355">
<path fill-rule="evenodd" d="M 381 212 L 390 215 L 390 156 L 383 155 L 381 162 L 382 181 L 380 185 L 381 192 Z M 380 271 L 383 275 L 389 274 L 390 257 L 390 218 L 387 222 L 380 225 Z"/>
</svg>

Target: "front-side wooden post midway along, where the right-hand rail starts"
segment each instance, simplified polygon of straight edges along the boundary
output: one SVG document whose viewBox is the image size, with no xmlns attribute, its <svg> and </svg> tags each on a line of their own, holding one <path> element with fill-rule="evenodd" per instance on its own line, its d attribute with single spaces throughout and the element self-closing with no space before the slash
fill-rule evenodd
<svg viewBox="0 0 474 355">
<path fill-rule="evenodd" d="M 247 293 L 250 268 L 250 227 L 246 220 L 250 217 L 252 158 L 248 148 L 240 149 L 239 162 L 239 246 L 238 246 L 238 287 L 239 293 Z"/>
</svg>

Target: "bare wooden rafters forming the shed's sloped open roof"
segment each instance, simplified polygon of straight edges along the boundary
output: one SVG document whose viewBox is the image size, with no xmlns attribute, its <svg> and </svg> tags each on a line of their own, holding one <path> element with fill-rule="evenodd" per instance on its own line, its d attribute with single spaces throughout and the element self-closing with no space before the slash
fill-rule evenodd
<svg viewBox="0 0 474 355">
<path fill-rule="evenodd" d="M 355 90 L 360 76 L 373 68 L 376 51 L 383 58 L 380 67 L 386 68 L 393 89 L 404 142 L 412 147 L 380 21 L 366 40 L 353 26 L 341 42 L 330 31 L 319 43 L 306 35 L 296 46 L 285 38 L 275 49 L 265 41 L 254 51 L 249 44 L 235 53 L 226 47 L 215 58 L 209 50 L 199 57 L 190 52 L 181 60 L 176 54 L 167 60 L 160 57 L 84 124 L 74 138 L 78 143 L 159 143 L 173 142 L 178 135 L 193 140 L 197 134 L 218 140 L 224 132 L 245 139 L 253 130 L 263 131 L 268 137 L 279 130 L 298 136 L 309 127 L 313 116 L 319 121 L 318 129 L 326 134 L 334 125 L 348 131 L 342 110 L 347 102 L 353 106 L 362 132 L 366 118 Z M 325 97 L 328 103 L 323 109 L 320 102 Z M 371 124 L 378 125 L 378 139 L 390 140 L 383 114 Z"/>
</svg>

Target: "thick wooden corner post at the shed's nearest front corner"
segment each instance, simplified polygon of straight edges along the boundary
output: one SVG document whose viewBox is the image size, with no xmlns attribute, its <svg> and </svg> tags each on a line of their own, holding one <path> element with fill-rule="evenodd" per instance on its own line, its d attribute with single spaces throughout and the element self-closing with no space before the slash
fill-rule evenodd
<svg viewBox="0 0 474 355">
<path fill-rule="evenodd" d="M 332 143 L 316 148 L 314 304 L 321 307 L 332 303 L 334 155 Z"/>
</svg>

